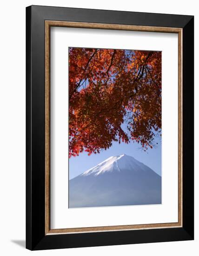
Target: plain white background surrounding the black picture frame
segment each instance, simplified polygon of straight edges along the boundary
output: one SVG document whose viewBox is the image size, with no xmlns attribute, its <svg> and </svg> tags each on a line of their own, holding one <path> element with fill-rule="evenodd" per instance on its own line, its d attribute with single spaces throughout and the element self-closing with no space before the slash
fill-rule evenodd
<svg viewBox="0 0 199 256">
<path fill-rule="evenodd" d="M 96 248 L 31 252 L 25 249 L 25 7 L 48 5 L 152 13 L 195 15 L 195 40 L 199 8 L 195 0 L 18 0 L 0 5 L 0 254 L 7 255 L 198 255 L 199 222 L 195 218 L 195 241 L 120 245 Z M 196 45 L 196 42 L 195 42 Z M 195 49 L 195 62 L 198 62 Z M 195 85 L 197 84 L 195 63 Z M 196 99 L 199 97 L 195 86 Z M 195 117 L 197 116 L 197 109 Z M 195 119 L 195 131 L 197 130 Z M 197 140 L 195 135 L 195 159 Z M 172 141 L 171 141 L 172 144 Z M 195 216 L 198 214 L 199 175 L 195 160 Z"/>
</svg>

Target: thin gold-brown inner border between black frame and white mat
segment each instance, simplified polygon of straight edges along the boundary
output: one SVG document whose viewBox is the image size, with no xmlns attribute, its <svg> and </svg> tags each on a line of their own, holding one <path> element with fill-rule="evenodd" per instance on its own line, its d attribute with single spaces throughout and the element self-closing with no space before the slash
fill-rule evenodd
<svg viewBox="0 0 199 256">
<path fill-rule="evenodd" d="M 178 34 L 178 222 L 104 227 L 51 229 L 50 227 L 50 27 L 129 30 Z M 182 227 L 182 28 L 149 27 L 104 23 L 45 21 L 45 234 L 105 232 L 132 229 Z"/>
</svg>

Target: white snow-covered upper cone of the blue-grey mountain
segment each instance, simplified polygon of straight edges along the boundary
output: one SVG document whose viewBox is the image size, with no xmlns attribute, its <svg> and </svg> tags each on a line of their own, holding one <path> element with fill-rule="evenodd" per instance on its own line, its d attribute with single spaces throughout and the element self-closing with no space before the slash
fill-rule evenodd
<svg viewBox="0 0 199 256">
<path fill-rule="evenodd" d="M 129 155 L 115 155 L 107 158 L 105 161 L 100 162 L 98 165 L 84 172 L 83 176 L 87 175 L 100 175 L 105 172 L 121 171 L 121 170 L 137 170 L 140 162 Z"/>
</svg>

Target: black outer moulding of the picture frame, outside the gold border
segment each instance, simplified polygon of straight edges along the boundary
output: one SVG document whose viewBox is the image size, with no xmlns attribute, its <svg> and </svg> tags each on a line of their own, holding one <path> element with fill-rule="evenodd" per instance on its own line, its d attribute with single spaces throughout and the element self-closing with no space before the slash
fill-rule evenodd
<svg viewBox="0 0 199 256">
<path fill-rule="evenodd" d="M 45 235 L 45 20 L 182 28 L 182 227 Z M 30 250 L 194 239 L 194 17 L 108 10 L 26 8 L 26 248 Z"/>
</svg>

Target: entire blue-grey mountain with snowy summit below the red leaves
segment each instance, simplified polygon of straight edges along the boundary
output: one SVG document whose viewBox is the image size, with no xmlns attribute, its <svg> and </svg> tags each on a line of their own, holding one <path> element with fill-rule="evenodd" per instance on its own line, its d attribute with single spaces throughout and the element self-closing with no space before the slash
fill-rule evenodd
<svg viewBox="0 0 199 256">
<path fill-rule="evenodd" d="M 132 156 L 107 158 L 69 181 L 69 208 L 161 203 L 161 176 Z"/>
</svg>

